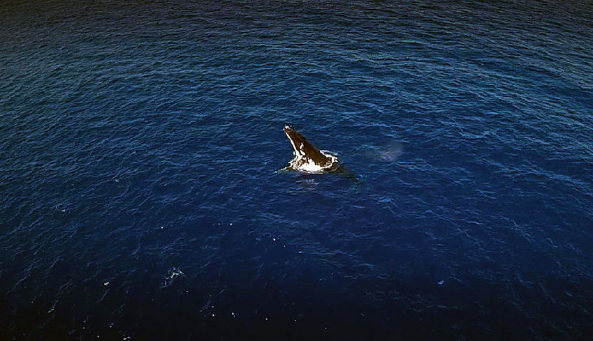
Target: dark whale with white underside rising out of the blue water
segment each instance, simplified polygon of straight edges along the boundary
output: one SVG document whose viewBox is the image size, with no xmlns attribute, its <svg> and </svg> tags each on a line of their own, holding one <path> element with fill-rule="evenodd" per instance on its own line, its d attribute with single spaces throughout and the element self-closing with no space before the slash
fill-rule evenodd
<svg viewBox="0 0 593 341">
<path fill-rule="evenodd" d="M 295 154 L 285 169 L 293 169 L 302 173 L 328 173 L 338 169 L 339 162 L 335 154 L 316 149 L 291 125 L 284 126 L 284 134 L 291 142 Z"/>
</svg>

